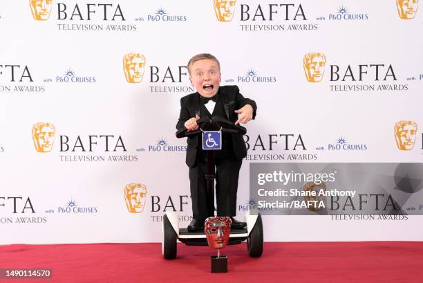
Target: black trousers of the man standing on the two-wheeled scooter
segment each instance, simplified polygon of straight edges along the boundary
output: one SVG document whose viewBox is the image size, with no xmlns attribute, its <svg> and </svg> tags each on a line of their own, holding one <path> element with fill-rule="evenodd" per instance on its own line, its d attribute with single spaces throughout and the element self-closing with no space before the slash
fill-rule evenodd
<svg viewBox="0 0 423 283">
<path fill-rule="evenodd" d="M 218 216 L 236 216 L 236 192 L 242 159 L 234 157 L 215 158 L 216 204 Z M 194 167 L 189 168 L 192 213 L 196 219 L 214 216 L 213 191 L 207 190 L 205 158 L 197 157 Z"/>
</svg>

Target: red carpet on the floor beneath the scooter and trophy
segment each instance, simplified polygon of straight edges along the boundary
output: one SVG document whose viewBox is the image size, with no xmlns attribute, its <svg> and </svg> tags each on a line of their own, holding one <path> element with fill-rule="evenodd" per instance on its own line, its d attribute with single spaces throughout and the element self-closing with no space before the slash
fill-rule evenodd
<svg viewBox="0 0 423 283">
<path fill-rule="evenodd" d="M 53 268 L 53 279 L 3 282 L 423 282 L 423 242 L 265 243 L 263 256 L 228 246 L 228 273 L 210 273 L 208 247 L 178 244 L 164 260 L 160 244 L 0 246 L 0 268 Z"/>
</svg>

